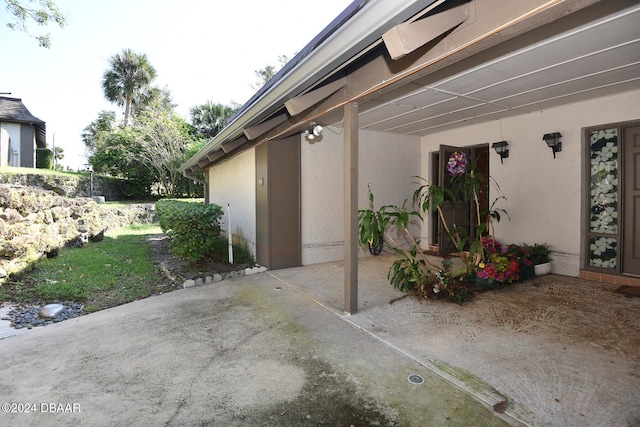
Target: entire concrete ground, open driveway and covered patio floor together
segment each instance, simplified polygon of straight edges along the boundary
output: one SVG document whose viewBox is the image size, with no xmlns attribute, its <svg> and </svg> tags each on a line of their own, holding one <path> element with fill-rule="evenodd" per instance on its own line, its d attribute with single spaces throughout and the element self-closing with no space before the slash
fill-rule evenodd
<svg viewBox="0 0 640 427">
<path fill-rule="evenodd" d="M 640 298 L 549 275 L 421 302 L 390 263 L 361 260 L 352 316 L 329 263 L 2 339 L 0 425 L 640 425 Z"/>
</svg>

